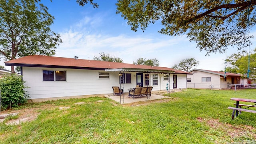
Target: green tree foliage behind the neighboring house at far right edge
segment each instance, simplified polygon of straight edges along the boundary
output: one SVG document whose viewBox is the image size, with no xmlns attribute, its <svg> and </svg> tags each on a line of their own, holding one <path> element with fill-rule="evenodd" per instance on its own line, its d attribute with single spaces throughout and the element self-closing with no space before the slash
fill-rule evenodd
<svg viewBox="0 0 256 144">
<path fill-rule="evenodd" d="M 249 75 L 250 77 L 256 77 L 256 49 L 252 54 L 250 54 L 250 58 L 248 58 L 247 52 L 238 52 L 237 54 L 232 54 L 227 58 L 227 63 L 231 66 L 226 68 L 226 72 L 239 73 L 246 75 L 248 71 L 248 62 L 249 65 Z"/>
</svg>

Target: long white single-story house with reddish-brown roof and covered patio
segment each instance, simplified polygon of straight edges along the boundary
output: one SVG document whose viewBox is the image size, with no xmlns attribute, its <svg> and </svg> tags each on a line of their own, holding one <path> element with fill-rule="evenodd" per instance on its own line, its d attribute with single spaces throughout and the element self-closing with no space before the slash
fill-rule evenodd
<svg viewBox="0 0 256 144">
<path fill-rule="evenodd" d="M 72 98 L 113 93 L 112 86 L 124 92 L 136 85 L 153 86 L 155 90 L 186 89 L 188 72 L 159 66 L 82 60 L 54 56 L 25 56 L 5 62 L 20 66 L 26 91 L 32 100 Z"/>
</svg>

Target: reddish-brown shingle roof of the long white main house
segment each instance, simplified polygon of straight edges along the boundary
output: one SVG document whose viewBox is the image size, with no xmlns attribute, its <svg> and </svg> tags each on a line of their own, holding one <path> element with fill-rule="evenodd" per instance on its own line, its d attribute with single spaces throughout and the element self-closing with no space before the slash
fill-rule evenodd
<svg viewBox="0 0 256 144">
<path fill-rule="evenodd" d="M 25 56 L 15 60 L 4 62 L 6 66 L 31 66 L 31 67 L 65 67 L 65 68 L 81 68 L 81 69 L 118 69 L 118 68 L 133 68 L 133 69 L 147 69 L 147 70 L 165 70 L 174 71 L 178 74 L 190 74 L 188 72 L 175 70 L 173 68 L 160 66 L 146 66 L 136 64 L 126 64 L 119 62 L 105 62 L 98 60 L 83 60 L 74 58 L 62 58 L 55 56 Z"/>
</svg>

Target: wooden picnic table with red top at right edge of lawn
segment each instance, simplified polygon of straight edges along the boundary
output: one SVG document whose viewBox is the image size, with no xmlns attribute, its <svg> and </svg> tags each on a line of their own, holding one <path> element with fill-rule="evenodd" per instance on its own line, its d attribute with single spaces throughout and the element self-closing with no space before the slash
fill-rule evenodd
<svg viewBox="0 0 256 144">
<path fill-rule="evenodd" d="M 239 114 L 241 114 L 241 112 L 252 112 L 252 113 L 256 113 L 256 110 L 248 110 L 247 108 L 251 108 L 251 107 L 256 107 L 256 100 L 254 99 L 246 99 L 246 98 L 230 98 L 230 100 L 235 100 L 236 103 L 234 105 L 236 105 L 236 107 L 228 107 L 228 109 L 233 110 L 232 112 L 232 120 L 234 120 L 234 117 L 238 116 L 238 112 Z M 239 104 L 239 102 L 252 102 L 255 104 L 252 105 L 248 105 L 248 104 Z M 245 108 L 242 108 L 242 106 L 245 106 Z M 236 112 L 236 114 L 235 114 Z"/>
</svg>

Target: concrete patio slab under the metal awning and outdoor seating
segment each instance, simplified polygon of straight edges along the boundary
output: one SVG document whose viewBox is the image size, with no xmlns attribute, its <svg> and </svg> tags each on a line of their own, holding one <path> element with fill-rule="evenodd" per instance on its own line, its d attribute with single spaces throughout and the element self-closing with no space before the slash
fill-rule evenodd
<svg viewBox="0 0 256 144">
<path fill-rule="evenodd" d="M 163 99 L 163 98 L 168 98 L 167 96 L 162 96 L 162 95 L 158 95 L 158 94 L 151 94 L 151 97 L 147 97 L 147 96 L 142 96 L 142 97 L 135 97 L 133 99 L 133 97 L 128 96 L 128 92 L 125 92 L 124 94 L 122 94 L 121 96 L 114 96 L 113 94 L 107 94 L 105 95 L 106 98 L 110 98 L 120 104 L 129 104 L 129 103 L 133 103 L 133 102 L 145 102 L 145 101 L 149 101 L 149 100 L 156 100 L 156 99 Z"/>
</svg>

